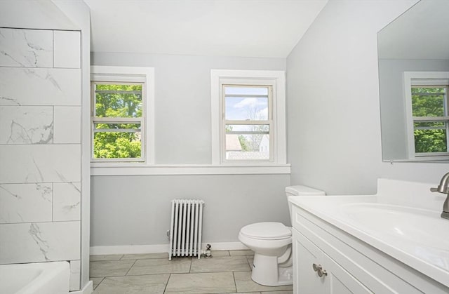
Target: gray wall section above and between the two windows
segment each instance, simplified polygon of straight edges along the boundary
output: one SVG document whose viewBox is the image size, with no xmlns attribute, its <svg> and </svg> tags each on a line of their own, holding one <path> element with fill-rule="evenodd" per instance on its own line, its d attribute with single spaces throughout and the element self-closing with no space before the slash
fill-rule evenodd
<svg viewBox="0 0 449 294">
<path fill-rule="evenodd" d="M 92 65 L 154 67 L 156 163 L 210 163 L 210 69 L 285 70 L 284 58 L 93 53 Z"/>
</svg>

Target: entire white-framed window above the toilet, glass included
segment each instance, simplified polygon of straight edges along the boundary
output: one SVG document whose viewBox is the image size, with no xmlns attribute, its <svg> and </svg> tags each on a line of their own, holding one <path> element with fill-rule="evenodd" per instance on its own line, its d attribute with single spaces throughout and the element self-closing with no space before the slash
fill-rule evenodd
<svg viewBox="0 0 449 294">
<path fill-rule="evenodd" d="M 211 71 L 213 163 L 285 164 L 285 77 Z"/>
</svg>

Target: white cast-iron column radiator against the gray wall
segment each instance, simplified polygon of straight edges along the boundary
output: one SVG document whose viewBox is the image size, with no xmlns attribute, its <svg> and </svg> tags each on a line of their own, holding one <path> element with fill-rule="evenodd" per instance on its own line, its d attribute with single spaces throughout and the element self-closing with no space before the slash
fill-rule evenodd
<svg viewBox="0 0 449 294">
<path fill-rule="evenodd" d="M 172 256 L 201 257 L 203 200 L 174 199 L 171 201 L 170 251 Z"/>
</svg>

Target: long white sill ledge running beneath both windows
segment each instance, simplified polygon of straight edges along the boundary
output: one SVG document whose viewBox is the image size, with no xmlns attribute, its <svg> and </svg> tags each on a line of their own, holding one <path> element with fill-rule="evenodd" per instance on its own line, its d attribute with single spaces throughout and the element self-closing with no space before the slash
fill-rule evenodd
<svg viewBox="0 0 449 294">
<path fill-rule="evenodd" d="M 290 164 L 155 164 L 91 163 L 91 175 L 263 175 L 290 174 Z"/>
</svg>

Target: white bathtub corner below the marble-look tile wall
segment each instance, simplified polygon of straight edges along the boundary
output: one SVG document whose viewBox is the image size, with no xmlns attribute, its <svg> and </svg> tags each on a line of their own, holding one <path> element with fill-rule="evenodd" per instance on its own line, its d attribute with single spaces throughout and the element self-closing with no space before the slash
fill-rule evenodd
<svg viewBox="0 0 449 294">
<path fill-rule="evenodd" d="M 1 294 L 67 294 L 69 262 L 0 265 Z"/>
</svg>

